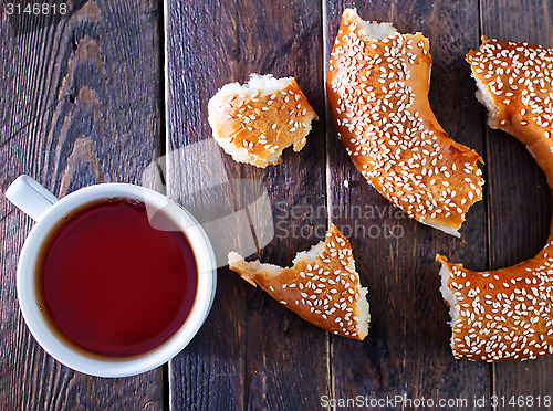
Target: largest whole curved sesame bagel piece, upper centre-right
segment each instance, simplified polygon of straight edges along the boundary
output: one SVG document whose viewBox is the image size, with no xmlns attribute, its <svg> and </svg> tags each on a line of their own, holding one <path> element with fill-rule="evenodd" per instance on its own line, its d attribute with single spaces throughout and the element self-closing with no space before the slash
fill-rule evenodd
<svg viewBox="0 0 553 411">
<path fill-rule="evenodd" d="M 482 198 L 482 159 L 449 138 L 430 108 L 428 50 L 422 34 L 367 23 L 347 9 L 326 93 L 338 137 L 367 181 L 409 217 L 460 236 Z"/>
</svg>

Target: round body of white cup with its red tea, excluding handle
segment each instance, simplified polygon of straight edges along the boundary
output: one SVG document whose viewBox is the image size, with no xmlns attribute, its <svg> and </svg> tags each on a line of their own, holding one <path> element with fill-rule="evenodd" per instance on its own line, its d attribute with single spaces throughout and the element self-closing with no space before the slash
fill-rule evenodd
<svg viewBox="0 0 553 411">
<path fill-rule="evenodd" d="M 166 362 L 212 303 L 215 257 L 201 228 L 165 197 L 135 188 L 69 194 L 33 228 L 21 254 L 18 294 L 31 333 L 85 373 L 122 377 Z M 71 196 L 86 190 L 93 196 L 75 205 Z"/>
</svg>

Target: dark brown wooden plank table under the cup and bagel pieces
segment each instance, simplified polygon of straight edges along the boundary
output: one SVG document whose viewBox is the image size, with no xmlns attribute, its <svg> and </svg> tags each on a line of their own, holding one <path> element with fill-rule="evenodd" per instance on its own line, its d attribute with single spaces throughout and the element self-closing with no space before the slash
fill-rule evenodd
<svg viewBox="0 0 553 411">
<path fill-rule="evenodd" d="M 20 173 L 59 197 L 108 181 L 152 185 L 143 171 L 161 158 L 168 196 L 192 209 L 212 204 L 206 198 L 211 162 L 192 167 L 180 155 L 211 137 L 208 99 L 251 72 L 293 75 L 320 116 L 306 147 L 286 150 L 282 165 L 264 170 L 216 152 L 229 179 L 253 179 L 267 189 L 274 223 L 281 224 L 254 257 L 290 264 L 296 251 L 319 241 L 316 230 L 304 235 L 307 229 L 330 222 L 380 230 L 387 224 L 403 235 L 349 235 L 369 287 L 373 319 L 363 342 L 311 326 L 223 267 L 211 314 L 188 347 L 150 372 L 103 379 L 61 366 L 28 331 L 15 268 L 32 221 L 1 196 L 2 410 L 316 410 L 343 409 L 330 400 L 348 398 L 380 400 L 384 409 L 389 403 L 382 401 L 396 396 L 415 401 L 405 409 L 422 399 L 490 409 L 492 396 L 505 402 L 525 396 L 528 405 L 534 400 L 528 409 L 544 409 L 536 398 L 553 396 L 553 357 L 497 365 L 453 359 L 434 257 L 439 252 L 473 270 L 498 268 L 532 256 L 547 236 L 552 202 L 545 178 L 521 144 L 487 127 L 465 54 L 482 34 L 553 46 L 551 0 L 356 4 L 364 19 L 430 39 L 436 116 L 451 137 L 484 158 L 484 199 L 468 213 L 459 240 L 396 214 L 336 138 L 324 73 L 342 11 L 353 2 L 69 0 L 64 15 L 8 14 L 8 3 L 0 1 L 2 192 Z M 206 196 L 194 194 L 202 188 Z M 228 202 L 227 194 L 218 196 Z M 359 205 L 390 212 L 359 219 L 351 211 Z M 286 213 L 292 207 L 295 212 Z M 307 229 L 294 235 L 293 225 Z M 396 404 L 388 409 L 401 408 Z"/>
</svg>

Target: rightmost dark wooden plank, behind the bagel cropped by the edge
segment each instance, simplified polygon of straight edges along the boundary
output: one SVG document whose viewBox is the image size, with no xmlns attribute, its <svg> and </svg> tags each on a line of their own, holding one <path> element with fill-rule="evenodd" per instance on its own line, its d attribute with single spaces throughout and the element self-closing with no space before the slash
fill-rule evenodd
<svg viewBox="0 0 553 411">
<path fill-rule="evenodd" d="M 553 46 L 551 2 L 482 0 L 480 10 L 483 35 Z M 543 247 L 551 224 L 552 201 L 545 176 L 525 147 L 507 133 L 492 129 L 487 133 L 489 257 L 490 267 L 500 268 L 532 257 Z M 539 396 L 553 393 L 553 357 L 495 363 L 493 393 L 505 405 L 513 396 L 517 401 L 524 396 L 520 404 L 528 405 L 515 403 L 499 409 L 544 408 L 536 401 Z M 529 399 L 533 402 L 526 402 Z"/>
</svg>

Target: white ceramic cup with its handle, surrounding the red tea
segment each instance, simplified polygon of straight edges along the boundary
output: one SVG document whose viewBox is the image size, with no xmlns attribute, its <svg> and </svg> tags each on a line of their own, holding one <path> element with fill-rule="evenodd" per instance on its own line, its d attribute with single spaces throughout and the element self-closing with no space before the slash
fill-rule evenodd
<svg viewBox="0 0 553 411">
<path fill-rule="evenodd" d="M 21 312 L 36 341 L 58 361 L 92 376 L 126 377 L 152 370 L 175 357 L 192 339 L 207 318 L 216 292 L 216 260 L 202 228 L 195 218 L 165 196 L 127 183 L 102 183 L 74 191 L 61 200 L 29 176 L 20 176 L 6 191 L 15 207 L 36 224 L 23 244 L 18 264 L 17 288 Z M 192 249 L 198 268 L 198 285 L 192 308 L 179 329 L 159 347 L 133 357 L 87 355 L 58 337 L 41 313 L 36 296 L 39 250 L 64 215 L 83 204 L 124 197 L 144 201 L 148 215 L 163 210 L 176 223 Z M 152 221 L 152 220 L 150 220 Z"/>
</svg>

